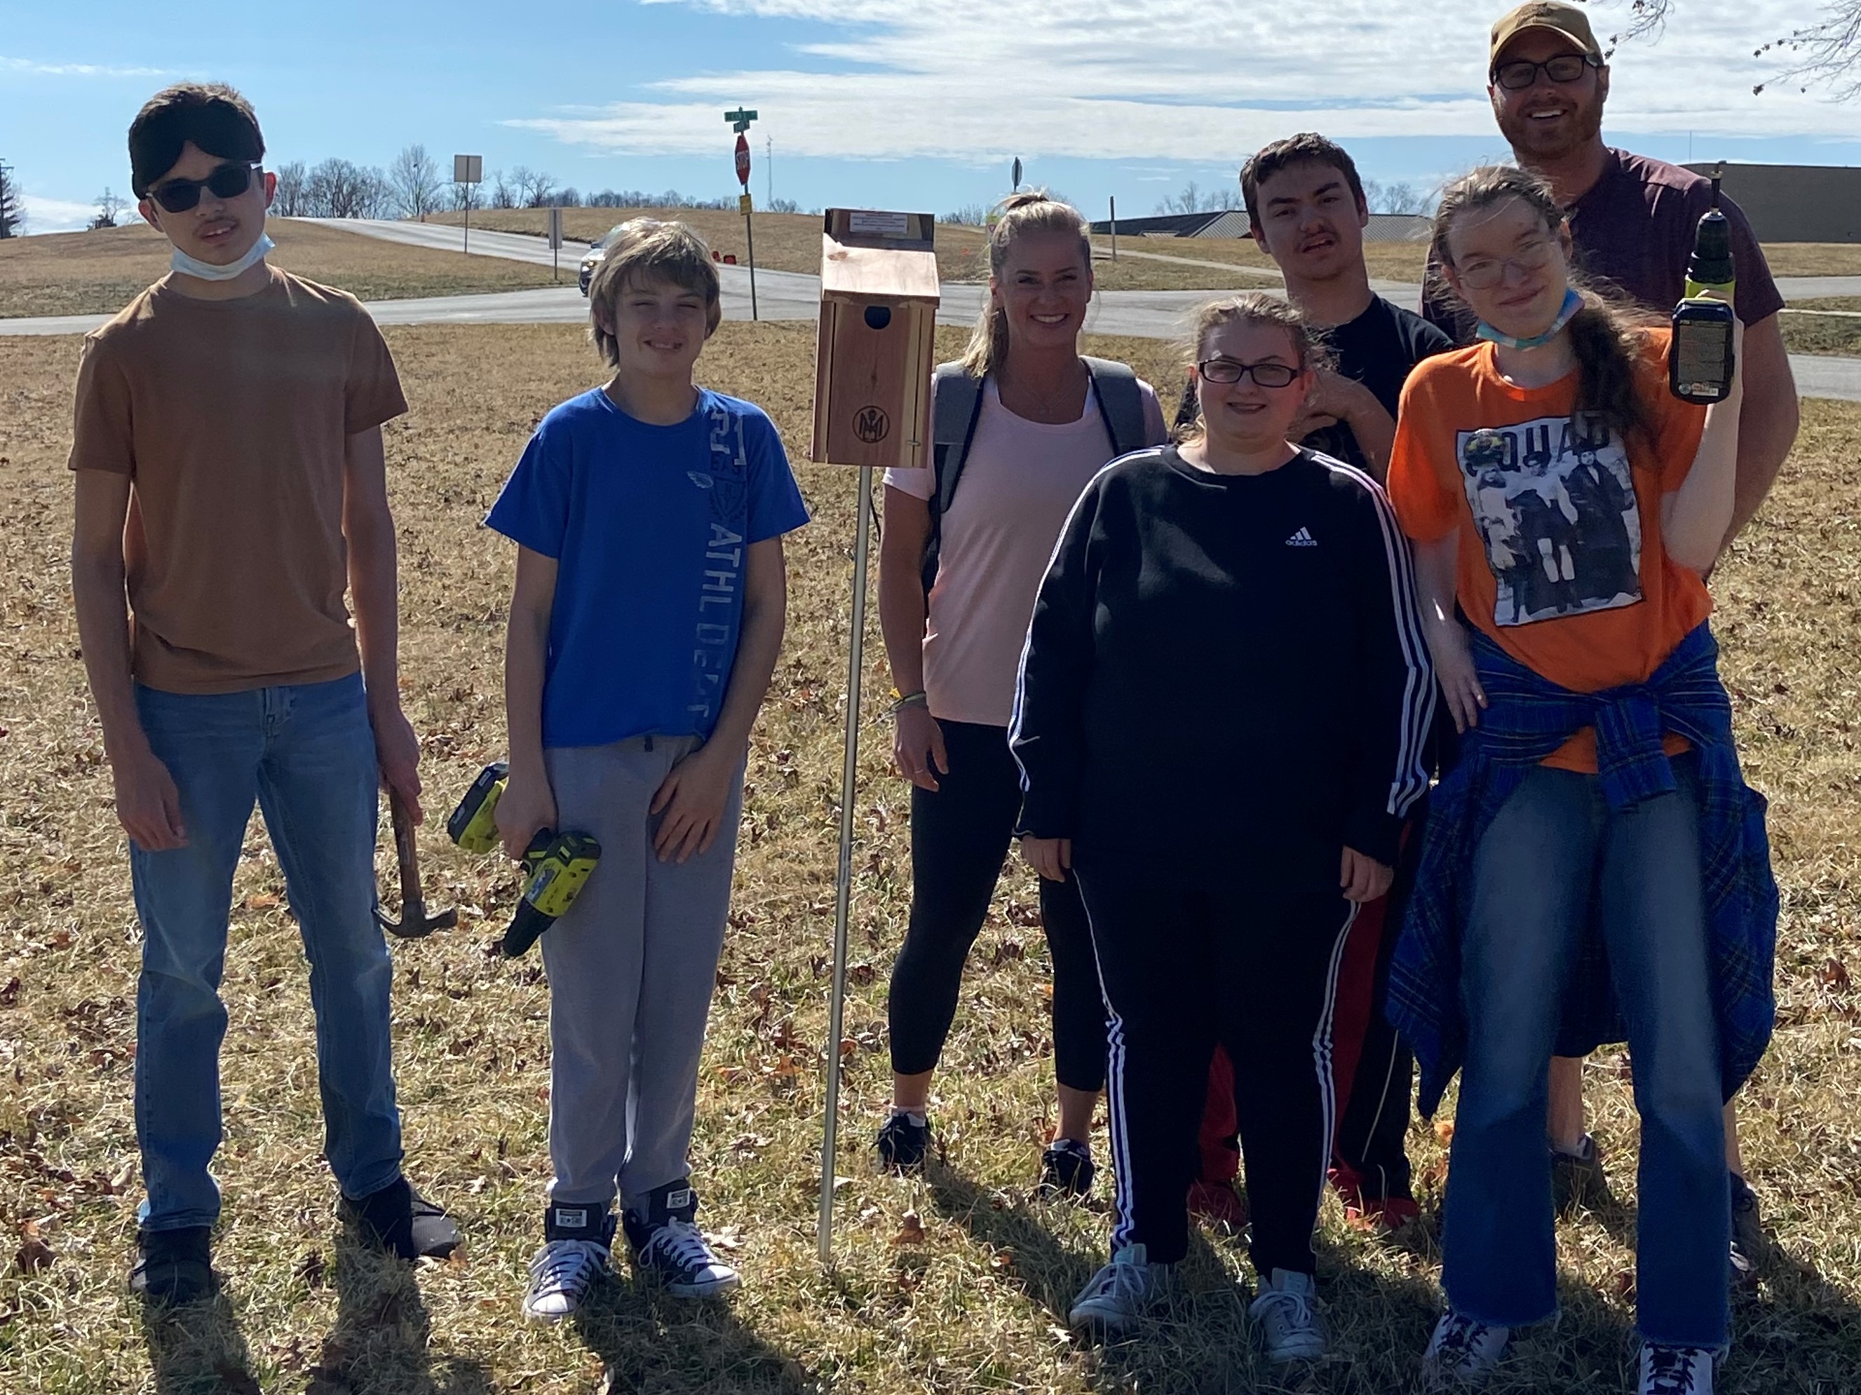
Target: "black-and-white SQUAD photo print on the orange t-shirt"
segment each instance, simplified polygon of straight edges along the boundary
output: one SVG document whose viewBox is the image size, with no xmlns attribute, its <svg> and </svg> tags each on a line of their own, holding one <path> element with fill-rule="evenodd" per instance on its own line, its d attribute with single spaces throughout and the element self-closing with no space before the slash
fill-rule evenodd
<svg viewBox="0 0 1861 1395">
<path fill-rule="evenodd" d="M 1498 582 L 1494 625 L 1641 599 L 1641 510 L 1606 422 L 1539 417 L 1461 432 L 1455 456 Z"/>
</svg>

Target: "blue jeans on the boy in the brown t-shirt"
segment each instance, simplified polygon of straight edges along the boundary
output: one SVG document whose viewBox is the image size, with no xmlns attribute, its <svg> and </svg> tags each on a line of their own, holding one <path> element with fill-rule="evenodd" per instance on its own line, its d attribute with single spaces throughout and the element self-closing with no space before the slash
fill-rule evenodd
<svg viewBox="0 0 1861 1395">
<path fill-rule="evenodd" d="M 130 843 L 136 1138 L 147 1229 L 210 1226 L 220 1187 L 220 1003 L 233 869 L 257 800 L 311 962 L 324 1155 L 344 1196 L 400 1176 L 389 1066 L 393 963 L 374 923 L 376 757 L 361 677 L 229 694 L 136 690 L 143 731 L 181 792 L 188 844 Z"/>
</svg>

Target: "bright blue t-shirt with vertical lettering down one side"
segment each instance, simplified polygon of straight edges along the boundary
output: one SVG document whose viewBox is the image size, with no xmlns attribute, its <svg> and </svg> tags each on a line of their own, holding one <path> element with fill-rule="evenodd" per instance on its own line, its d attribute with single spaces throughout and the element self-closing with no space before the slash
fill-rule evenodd
<svg viewBox="0 0 1861 1395">
<path fill-rule="evenodd" d="M 486 525 L 556 558 L 543 746 L 709 737 L 750 543 L 808 523 L 774 424 L 700 389 L 648 426 L 594 389 L 543 417 Z"/>
</svg>

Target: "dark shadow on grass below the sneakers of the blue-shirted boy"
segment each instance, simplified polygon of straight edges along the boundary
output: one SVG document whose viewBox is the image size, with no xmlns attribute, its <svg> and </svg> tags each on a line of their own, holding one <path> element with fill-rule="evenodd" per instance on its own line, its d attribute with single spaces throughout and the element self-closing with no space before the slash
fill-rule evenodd
<svg viewBox="0 0 1861 1395">
<path fill-rule="evenodd" d="M 612 1395 L 823 1389 L 819 1376 L 739 1322 L 728 1298 L 668 1298 L 622 1272 L 597 1285 L 573 1321 Z"/>
</svg>

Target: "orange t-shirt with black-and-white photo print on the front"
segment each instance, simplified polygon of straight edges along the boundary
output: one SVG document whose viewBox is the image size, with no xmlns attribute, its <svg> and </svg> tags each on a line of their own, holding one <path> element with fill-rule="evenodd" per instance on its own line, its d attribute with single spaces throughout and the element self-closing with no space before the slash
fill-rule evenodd
<svg viewBox="0 0 1861 1395">
<path fill-rule="evenodd" d="M 1712 612 L 1699 573 L 1667 558 L 1660 502 L 1686 480 L 1705 409 L 1667 391 L 1666 329 L 1640 365 L 1651 424 L 1621 433 L 1574 415 L 1573 372 L 1524 389 L 1493 346 L 1416 366 L 1401 394 L 1388 495 L 1418 543 L 1459 530 L 1455 599 L 1533 673 L 1573 692 L 1641 683 Z M 1686 742 L 1667 737 L 1669 753 Z M 1545 764 L 1595 772 L 1586 727 Z"/>
</svg>

